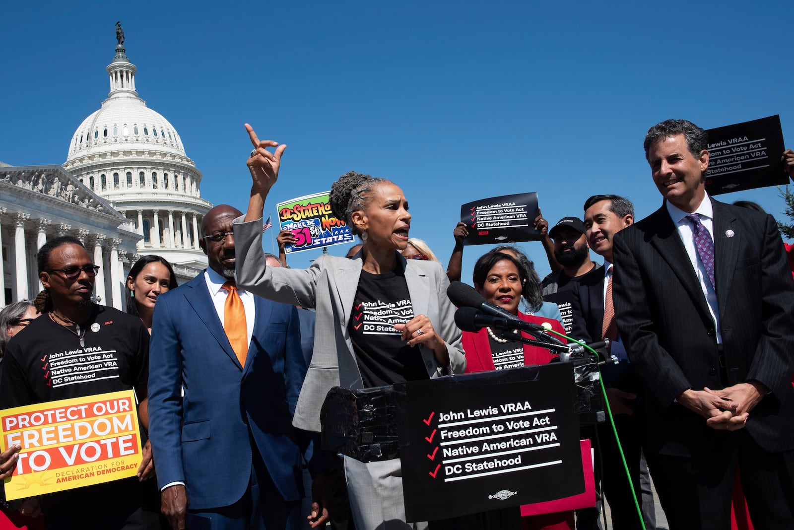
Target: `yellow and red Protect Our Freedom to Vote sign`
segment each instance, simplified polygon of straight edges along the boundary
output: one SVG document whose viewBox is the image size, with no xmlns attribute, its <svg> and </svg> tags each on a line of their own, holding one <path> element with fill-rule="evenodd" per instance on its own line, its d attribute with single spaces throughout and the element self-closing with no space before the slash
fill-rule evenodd
<svg viewBox="0 0 794 530">
<path fill-rule="evenodd" d="M 133 390 L 2 410 L 0 436 L 22 446 L 8 500 L 133 477 L 143 459 Z"/>
</svg>

